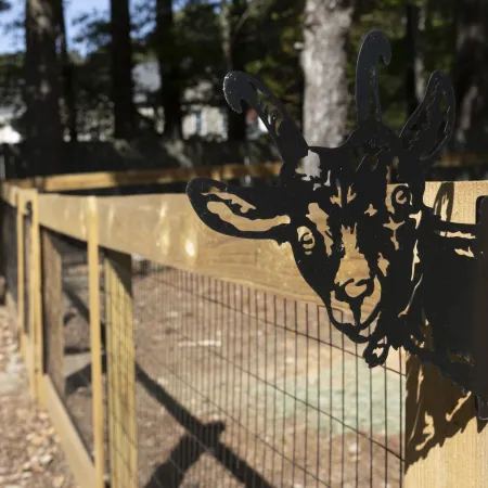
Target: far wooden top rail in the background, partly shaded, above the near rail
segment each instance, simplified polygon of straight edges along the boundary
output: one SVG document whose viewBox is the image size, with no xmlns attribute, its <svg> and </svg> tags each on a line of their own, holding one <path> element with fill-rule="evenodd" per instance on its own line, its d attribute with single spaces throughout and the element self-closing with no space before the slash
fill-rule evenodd
<svg viewBox="0 0 488 488">
<path fill-rule="evenodd" d="M 278 175 L 281 163 L 256 165 L 232 164 L 223 166 L 202 166 L 195 168 L 146 169 L 115 172 L 87 172 L 77 175 L 56 175 L 10 180 L 20 188 L 35 188 L 40 192 L 63 192 L 73 190 L 95 190 L 136 184 L 163 184 L 190 181 L 196 177 L 210 177 L 230 180 L 245 176 L 264 177 Z"/>
</svg>

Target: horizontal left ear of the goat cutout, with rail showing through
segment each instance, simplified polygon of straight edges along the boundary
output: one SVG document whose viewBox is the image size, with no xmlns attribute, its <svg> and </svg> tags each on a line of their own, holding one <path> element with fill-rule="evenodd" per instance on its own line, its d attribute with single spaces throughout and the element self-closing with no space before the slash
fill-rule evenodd
<svg viewBox="0 0 488 488">
<path fill-rule="evenodd" d="M 193 209 L 210 229 L 246 239 L 285 242 L 290 217 L 283 189 L 235 188 L 221 181 L 196 178 L 187 187 Z"/>
</svg>

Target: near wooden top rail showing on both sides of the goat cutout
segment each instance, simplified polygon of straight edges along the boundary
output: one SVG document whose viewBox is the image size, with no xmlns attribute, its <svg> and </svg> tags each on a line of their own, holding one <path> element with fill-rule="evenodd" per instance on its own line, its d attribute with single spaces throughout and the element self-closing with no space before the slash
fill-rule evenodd
<svg viewBox="0 0 488 488">
<path fill-rule="evenodd" d="M 427 184 L 425 202 L 435 204 L 441 215 L 449 213 L 449 220 L 468 223 L 475 221 L 476 198 L 487 194 L 488 181 L 435 182 Z M 100 197 L 97 203 L 104 247 L 320 303 L 296 269 L 288 244 L 214 232 L 196 217 L 184 194 Z M 82 241 L 87 239 L 85 208 L 85 197 L 39 196 L 41 226 Z"/>
</svg>

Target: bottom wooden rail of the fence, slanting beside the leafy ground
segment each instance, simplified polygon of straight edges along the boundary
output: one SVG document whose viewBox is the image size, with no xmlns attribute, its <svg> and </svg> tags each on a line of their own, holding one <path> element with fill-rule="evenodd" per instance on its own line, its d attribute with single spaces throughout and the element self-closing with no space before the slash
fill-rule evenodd
<svg viewBox="0 0 488 488">
<path fill-rule="evenodd" d="M 80 488 L 97 486 L 93 462 L 79 437 L 76 427 L 63 406 L 57 393 L 48 375 L 42 377 L 44 388 L 44 402 L 49 416 L 60 437 L 61 447 L 66 461 Z"/>
</svg>

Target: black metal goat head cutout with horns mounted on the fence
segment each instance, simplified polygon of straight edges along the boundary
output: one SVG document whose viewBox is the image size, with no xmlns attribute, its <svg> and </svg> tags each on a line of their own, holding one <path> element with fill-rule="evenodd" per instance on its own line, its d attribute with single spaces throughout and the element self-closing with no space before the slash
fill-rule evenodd
<svg viewBox="0 0 488 488">
<path fill-rule="evenodd" d="M 197 178 L 187 192 L 200 218 L 217 232 L 290 243 L 334 326 L 367 344 L 363 357 L 370 367 L 384 363 L 390 347 L 402 346 L 473 391 L 478 414 L 486 416 L 488 328 L 483 322 L 488 305 L 483 303 L 488 299 L 473 306 L 480 273 L 488 272 L 478 239 L 481 223 L 442 221 L 423 201 L 425 172 L 452 132 L 452 86 L 435 72 L 397 134 L 382 123 L 380 57 L 388 64 L 390 47 L 382 33 L 372 31 L 358 56 L 357 129 L 333 149 L 309 146 L 264 84 L 229 73 L 223 82 L 229 105 L 242 112 L 245 101 L 256 110 L 278 145 L 280 183 L 234 188 Z M 388 191 L 393 165 L 401 183 Z M 261 222 L 245 230 L 245 221 Z M 347 259 L 351 255 L 354 267 Z M 350 310 L 350 322 L 334 316 L 333 298 Z M 367 298 L 375 304 L 372 311 Z"/>
</svg>

